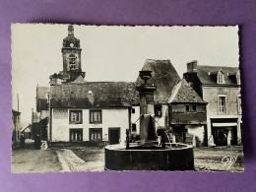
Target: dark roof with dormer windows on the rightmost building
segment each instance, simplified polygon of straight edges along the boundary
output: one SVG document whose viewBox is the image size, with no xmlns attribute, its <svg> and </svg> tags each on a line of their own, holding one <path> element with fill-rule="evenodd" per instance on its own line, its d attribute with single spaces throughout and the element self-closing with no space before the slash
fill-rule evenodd
<svg viewBox="0 0 256 192">
<path fill-rule="evenodd" d="M 222 70 L 224 73 L 224 85 L 237 85 L 235 76 L 227 76 L 239 72 L 238 67 L 221 67 L 221 66 L 197 66 L 197 76 L 203 85 L 216 85 L 217 73 Z M 210 75 L 209 75 L 210 72 Z"/>
</svg>

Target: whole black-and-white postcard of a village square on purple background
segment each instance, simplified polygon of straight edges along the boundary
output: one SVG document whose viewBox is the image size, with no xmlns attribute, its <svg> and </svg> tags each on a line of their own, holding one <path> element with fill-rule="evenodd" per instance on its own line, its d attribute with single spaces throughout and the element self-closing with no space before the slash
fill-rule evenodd
<svg viewBox="0 0 256 192">
<path fill-rule="evenodd" d="M 243 171 L 238 26 L 12 25 L 12 172 Z"/>
</svg>

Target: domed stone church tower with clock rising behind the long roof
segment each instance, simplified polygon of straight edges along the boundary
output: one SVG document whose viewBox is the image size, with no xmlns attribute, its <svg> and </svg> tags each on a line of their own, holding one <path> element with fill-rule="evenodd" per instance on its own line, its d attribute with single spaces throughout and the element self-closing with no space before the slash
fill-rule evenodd
<svg viewBox="0 0 256 192">
<path fill-rule="evenodd" d="M 80 40 L 74 35 L 73 26 L 68 27 L 68 36 L 63 39 L 61 49 L 63 57 L 63 71 L 59 74 L 50 76 L 50 85 L 60 85 L 62 83 L 70 83 L 81 81 L 85 78 L 86 73 L 81 68 L 81 52 Z"/>
</svg>

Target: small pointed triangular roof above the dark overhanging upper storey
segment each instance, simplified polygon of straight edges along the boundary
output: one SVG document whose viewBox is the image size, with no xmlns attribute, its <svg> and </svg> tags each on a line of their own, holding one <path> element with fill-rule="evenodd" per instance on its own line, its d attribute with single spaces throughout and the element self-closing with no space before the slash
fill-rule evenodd
<svg viewBox="0 0 256 192">
<path fill-rule="evenodd" d="M 181 80 L 174 87 L 168 102 L 207 103 L 200 96 L 198 96 L 198 94 L 192 89 L 192 87 L 186 82 L 185 79 Z"/>
</svg>

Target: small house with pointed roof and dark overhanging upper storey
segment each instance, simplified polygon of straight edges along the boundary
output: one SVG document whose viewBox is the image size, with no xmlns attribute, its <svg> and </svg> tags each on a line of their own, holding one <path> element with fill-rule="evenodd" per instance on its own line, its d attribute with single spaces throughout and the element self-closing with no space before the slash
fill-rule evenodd
<svg viewBox="0 0 256 192">
<path fill-rule="evenodd" d="M 181 80 L 172 90 L 168 100 L 169 125 L 178 143 L 189 143 L 188 134 L 196 137 L 197 145 L 207 143 L 207 102 Z"/>
</svg>

